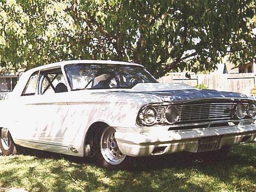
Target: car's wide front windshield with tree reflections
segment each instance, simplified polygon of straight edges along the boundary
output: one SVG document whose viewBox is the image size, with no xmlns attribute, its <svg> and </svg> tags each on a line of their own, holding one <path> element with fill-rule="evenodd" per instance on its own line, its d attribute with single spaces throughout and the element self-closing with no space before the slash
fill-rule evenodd
<svg viewBox="0 0 256 192">
<path fill-rule="evenodd" d="M 64 67 L 71 90 L 129 89 L 138 83 L 157 83 L 145 68 L 119 64 L 70 64 Z"/>
</svg>

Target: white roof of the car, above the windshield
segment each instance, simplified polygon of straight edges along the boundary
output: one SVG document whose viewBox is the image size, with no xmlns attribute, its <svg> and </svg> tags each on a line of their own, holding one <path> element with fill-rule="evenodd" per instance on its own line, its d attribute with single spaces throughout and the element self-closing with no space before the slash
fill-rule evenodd
<svg viewBox="0 0 256 192">
<path fill-rule="evenodd" d="M 119 65 L 135 65 L 135 66 L 141 66 L 143 67 L 143 65 L 140 64 L 136 64 L 136 63 L 129 63 L 129 62 L 124 62 L 124 61 L 107 61 L 107 60 L 69 60 L 69 61 L 59 61 L 59 62 L 55 62 L 55 63 L 51 63 L 51 64 L 45 64 L 45 65 L 41 65 L 39 67 L 34 67 L 32 69 L 29 69 L 27 71 L 29 71 L 30 73 L 34 73 L 35 71 L 38 70 L 44 70 L 47 68 L 51 68 L 51 67 L 64 67 L 64 65 L 67 64 L 80 64 L 80 63 L 86 63 L 86 64 L 119 64 Z"/>
</svg>

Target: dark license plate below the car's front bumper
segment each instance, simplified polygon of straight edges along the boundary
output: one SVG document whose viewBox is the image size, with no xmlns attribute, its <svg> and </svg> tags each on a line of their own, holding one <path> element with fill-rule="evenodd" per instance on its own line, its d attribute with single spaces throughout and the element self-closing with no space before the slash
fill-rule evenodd
<svg viewBox="0 0 256 192">
<path fill-rule="evenodd" d="M 198 153 L 218 150 L 220 137 L 205 137 L 199 140 Z"/>
</svg>

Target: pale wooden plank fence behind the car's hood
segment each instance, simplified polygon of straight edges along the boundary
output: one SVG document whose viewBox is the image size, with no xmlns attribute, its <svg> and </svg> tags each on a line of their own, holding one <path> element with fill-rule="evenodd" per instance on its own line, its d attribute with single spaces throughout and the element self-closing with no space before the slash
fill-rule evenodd
<svg viewBox="0 0 256 192">
<path fill-rule="evenodd" d="M 250 95 L 251 89 L 256 86 L 255 73 L 238 73 L 238 74 L 199 74 L 190 75 L 186 78 L 185 73 L 170 73 L 158 79 L 161 83 L 184 83 L 195 86 L 204 84 L 209 89 L 220 91 L 234 91 Z"/>
</svg>

